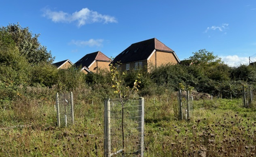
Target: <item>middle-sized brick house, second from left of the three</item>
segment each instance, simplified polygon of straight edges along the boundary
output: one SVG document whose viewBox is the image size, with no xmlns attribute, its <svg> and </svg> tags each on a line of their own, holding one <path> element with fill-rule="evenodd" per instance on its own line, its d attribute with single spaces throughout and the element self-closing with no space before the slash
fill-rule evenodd
<svg viewBox="0 0 256 157">
<path fill-rule="evenodd" d="M 84 73 L 96 72 L 99 69 L 108 69 L 111 59 L 100 51 L 89 53 L 83 56 L 79 61 L 75 63 L 76 67 L 81 67 L 81 71 Z"/>
</svg>

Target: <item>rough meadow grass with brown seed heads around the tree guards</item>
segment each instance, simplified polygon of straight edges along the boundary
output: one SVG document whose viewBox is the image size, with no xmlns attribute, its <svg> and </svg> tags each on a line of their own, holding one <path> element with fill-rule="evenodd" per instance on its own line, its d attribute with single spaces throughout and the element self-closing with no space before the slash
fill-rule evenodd
<svg viewBox="0 0 256 157">
<path fill-rule="evenodd" d="M 58 128 L 54 89 L 39 88 L 0 109 L 0 156 L 103 157 L 103 99 L 92 104 L 83 96 L 91 91 L 74 90 L 75 124 Z M 193 101 L 190 120 L 178 121 L 176 104 L 174 94 L 145 97 L 145 157 L 255 156 L 255 107 L 240 99 Z"/>
</svg>

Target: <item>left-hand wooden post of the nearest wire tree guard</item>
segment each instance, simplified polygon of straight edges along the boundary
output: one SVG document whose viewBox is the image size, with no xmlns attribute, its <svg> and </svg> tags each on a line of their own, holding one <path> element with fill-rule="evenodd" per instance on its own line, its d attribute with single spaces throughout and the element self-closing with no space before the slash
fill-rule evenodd
<svg viewBox="0 0 256 157">
<path fill-rule="evenodd" d="M 104 148 L 105 148 L 105 157 L 111 156 L 111 126 L 110 126 L 110 99 L 105 99 L 105 111 L 104 111 Z"/>
</svg>

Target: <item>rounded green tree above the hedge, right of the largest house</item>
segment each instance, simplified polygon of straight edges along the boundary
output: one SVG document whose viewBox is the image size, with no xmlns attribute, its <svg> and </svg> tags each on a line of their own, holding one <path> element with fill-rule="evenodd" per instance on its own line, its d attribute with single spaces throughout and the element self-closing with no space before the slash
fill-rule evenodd
<svg viewBox="0 0 256 157">
<path fill-rule="evenodd" d="M 221 58 L 217 55 L 213 55 L 213 52 L 209 52 L 205 49 L 193 52 L 193 56 L 189 57 L 189 59 L 192 59 L 193 64 L 195 65 L 213 65 L 222 63 Z"/>
</svg>

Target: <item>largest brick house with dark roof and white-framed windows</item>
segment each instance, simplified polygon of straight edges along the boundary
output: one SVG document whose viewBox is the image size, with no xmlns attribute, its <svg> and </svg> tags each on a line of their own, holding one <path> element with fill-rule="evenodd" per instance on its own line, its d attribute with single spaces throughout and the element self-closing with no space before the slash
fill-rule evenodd
<svg viewBox="0 0 256 157">
<path fill-rule="evenodd" d="M 150 71 L 150 67 L 159 67 L 165 64 L 180 63 L 176 53 L 158 39 L 148 39 L 137 42 L 126 48 L 115 57 L 113 63 L 120 62 L 121 71 L 139 69 Z"/>
</svg>

